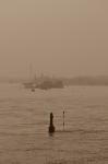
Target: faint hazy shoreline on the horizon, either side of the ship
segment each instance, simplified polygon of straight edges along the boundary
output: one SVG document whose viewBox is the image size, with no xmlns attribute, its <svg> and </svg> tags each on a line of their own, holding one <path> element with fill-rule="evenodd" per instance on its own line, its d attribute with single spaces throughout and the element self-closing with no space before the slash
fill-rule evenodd
<svg viewBox="0 0 108 164">
<path fill-rule="evenodd" d="M 57 78 L 62 80 L 65 86 L 108 86 L 108 77 L 75 77 L 75 78 Z M 28 81 L 22 78 L 1 78 L 0 83 L 24 83 Z"/>
</svg>

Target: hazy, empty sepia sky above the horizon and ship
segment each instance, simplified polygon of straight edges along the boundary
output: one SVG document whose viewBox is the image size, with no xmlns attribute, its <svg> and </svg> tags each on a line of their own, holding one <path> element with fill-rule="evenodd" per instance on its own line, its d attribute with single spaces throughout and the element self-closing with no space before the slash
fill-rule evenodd
<svg viewBox="0 0 108 164">
<path fill-rule="evenodd" d="M 1 0 L 0 77 L 108 74 L 107 0 Z"/>
</svg>

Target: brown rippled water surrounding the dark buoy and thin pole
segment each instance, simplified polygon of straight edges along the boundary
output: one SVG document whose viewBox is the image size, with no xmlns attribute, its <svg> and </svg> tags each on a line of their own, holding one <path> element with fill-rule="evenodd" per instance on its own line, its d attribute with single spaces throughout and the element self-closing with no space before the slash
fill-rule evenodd
<svg viewBox="0 0 108 164">
<path fill-rule="evenodd" d="M 65 110 L 65 131 L 62 112 Z M 55 136 L 48 134 L 53 112 Z M 108 87 L 0 84 L 0 164 L 108 164 Z"/>
</svg>

